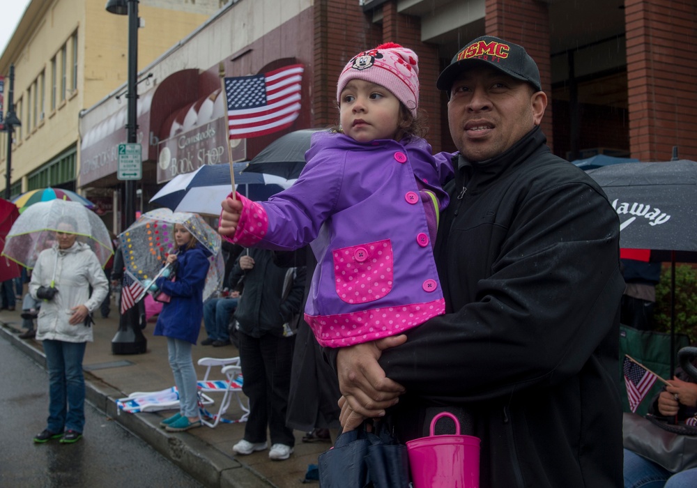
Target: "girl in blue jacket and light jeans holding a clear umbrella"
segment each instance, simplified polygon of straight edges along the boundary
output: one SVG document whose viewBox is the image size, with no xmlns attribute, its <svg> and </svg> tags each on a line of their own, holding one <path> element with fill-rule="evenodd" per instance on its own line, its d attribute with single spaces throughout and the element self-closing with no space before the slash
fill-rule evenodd
<svg viewBox="0 0 697 488">
<path fill-rule="evenodd" d="M 178 252 L 169 254 L 167 263 L 173 265 L 176 262 L 176 278 L 171 280 L 165 270 L 155 280 L 156 287 L 171 297 L 169 303 L 162 306 L 155 324 L 155 335 L 167 337 L 169 365 L 179 391 L 179 412 L 162 420 L 160 425 L 169 432 L 181 432 L 201 427 L 191 346 L 196 344 L 201 330 L 210 252 L 181 224 L 174 225 L 174 240 Z"/>
</svg>

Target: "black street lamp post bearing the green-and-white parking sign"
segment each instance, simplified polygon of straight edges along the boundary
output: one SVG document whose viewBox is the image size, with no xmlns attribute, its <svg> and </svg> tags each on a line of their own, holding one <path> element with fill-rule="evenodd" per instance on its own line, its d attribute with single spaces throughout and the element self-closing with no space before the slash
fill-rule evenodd
<svg viewBox="0 0 697 488">
<path fill-rule="evenodd" d="M 138 0 L 109 0 L 106 10 L 116 15 L 128 15 L 128 100 L 126 115 L 126 142 L 137 142 L 137 77 L 138 77 Z M 128 229 L 135 222 L 135 180 L 125 181 L 124 224 Z M 137 354 L 147 349 L 147 340 L 141 332 L 141 323 L 145 321 L 143 300 L 121 314 L 118 331 L 112 339 L 112 353 Z"/>
</svg>

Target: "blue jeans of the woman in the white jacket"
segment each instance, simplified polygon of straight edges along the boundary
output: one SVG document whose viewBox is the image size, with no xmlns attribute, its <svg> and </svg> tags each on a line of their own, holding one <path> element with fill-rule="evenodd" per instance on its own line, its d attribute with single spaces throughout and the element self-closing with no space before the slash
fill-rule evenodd
<svg viewBox="0 0 697 488">
<path fill-rule="evenodd" d="M 74 430 L 85 425 L 85 379 L 82 374 L 86 342 L 45 340 L 43 349 L 49 377 L 47 429 Z"/>
</svg>

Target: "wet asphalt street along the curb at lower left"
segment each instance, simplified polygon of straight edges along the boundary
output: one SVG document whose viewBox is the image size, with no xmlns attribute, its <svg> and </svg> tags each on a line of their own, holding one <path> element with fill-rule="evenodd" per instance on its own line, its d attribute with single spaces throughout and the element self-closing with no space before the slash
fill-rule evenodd
<svg viewBox="0 0 697 488">
<path fill-rule="evenodd" d="M 83 439 L 35 444 L 47 413 L 47 372 L 0 337 L 0 487 L 202 486 L 89 403 Z"/>
</svg>

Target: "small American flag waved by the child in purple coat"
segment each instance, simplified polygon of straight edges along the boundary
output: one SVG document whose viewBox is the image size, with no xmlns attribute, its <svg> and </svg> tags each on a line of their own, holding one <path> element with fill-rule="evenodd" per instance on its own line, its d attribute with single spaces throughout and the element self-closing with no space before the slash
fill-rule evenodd
<svg viewBox="0 0 697 488">
<path fill-rule="evenodd" d="M 270 134 L 298 119 L 304 70 L 293 64 L 263 75 L 225 78 L 230 139 Z"/>
</svg>

